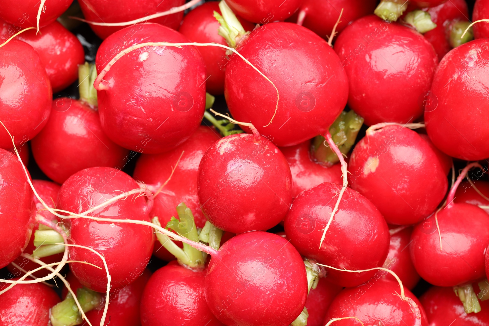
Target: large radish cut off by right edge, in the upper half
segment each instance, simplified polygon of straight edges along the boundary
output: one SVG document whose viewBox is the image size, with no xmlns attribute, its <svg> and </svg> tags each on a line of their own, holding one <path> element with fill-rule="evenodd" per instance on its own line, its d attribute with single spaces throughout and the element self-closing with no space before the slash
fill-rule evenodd
<svg viewBox="0 0 489 326">
<path fill-rule="evenodd" d="M 456 158 L 479 160 L 489 156 L 489 130 L 484 127 L 489 123 L 488 49 L 489 41 L 479 39 L 446 54 L 433 78 L 430 100 L 425 103 L 428 136 L 442 152 Z M 459 93 L 463 95 L 455 95 Z M 477 116 L 478 124 L 471 122 L 473 116 Z"/>
</svg>

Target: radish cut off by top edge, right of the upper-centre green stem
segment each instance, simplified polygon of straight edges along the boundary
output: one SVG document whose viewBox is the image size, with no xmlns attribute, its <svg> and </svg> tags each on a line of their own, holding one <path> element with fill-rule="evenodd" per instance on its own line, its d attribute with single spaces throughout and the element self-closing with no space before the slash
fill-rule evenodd
<svg viewBox="0 0 489 326">
<path fill-rule="evenodd" d="M 226 0 L 229 7 L 249 22 L 267 24 L 284 21 L 299 8 L 302 0 Z"/>
</svg>

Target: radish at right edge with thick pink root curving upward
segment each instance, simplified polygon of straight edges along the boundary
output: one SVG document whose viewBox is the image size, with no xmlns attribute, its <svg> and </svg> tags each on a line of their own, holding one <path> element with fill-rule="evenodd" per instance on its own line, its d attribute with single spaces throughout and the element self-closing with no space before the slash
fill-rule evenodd
<svg viewBox="0 0 489 326">
<path fill-rule="evenodd" d="M 414 267 L 433 285 L 456 286 L 486 275 L 484 253 L 489 244 L 489 215 L 474 205 L 453 202 L 458 185 L 475 165 L 478 164 L 467 165 L 459 175 L 446 198 L 446 207 L 419 223 L 411 235 Z M 461 297 L 464 305 L 473 296 L 473 291 L 466 292 L 466 300 Z"/>
</svg>

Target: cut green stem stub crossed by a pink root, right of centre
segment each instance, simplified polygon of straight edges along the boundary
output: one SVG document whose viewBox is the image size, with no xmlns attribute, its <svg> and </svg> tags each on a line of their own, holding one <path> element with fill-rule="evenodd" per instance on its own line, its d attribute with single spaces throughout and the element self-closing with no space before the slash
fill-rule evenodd
<svg viewBox="0 0 489 326">
<path fill-rule="evenodd" d="M 353 110 L 341 112 L 330 128 L 333 141 L 340 152 L 343 154 L 350 152 L 362 125 L 363 118 Z M 325 166 L 332 166 L 339 162 L 339 158 L 333 150 L 329 146 L 324 145 L 323 136 L 316 136 L 312 141 L 311 155 L 315 161 Z"/>
</svg>

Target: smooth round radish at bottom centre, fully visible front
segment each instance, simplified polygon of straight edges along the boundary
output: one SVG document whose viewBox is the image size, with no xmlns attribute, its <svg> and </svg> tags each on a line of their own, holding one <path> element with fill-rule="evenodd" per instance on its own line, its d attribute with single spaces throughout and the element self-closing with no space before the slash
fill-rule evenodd
<svg viewBox="0 0 489 326">
<path fill-rule="evenodd" d="M 307 298 L 306 268 L 288 241 L 273 233 L 246 232 L 212 257 L 205 300 L 225 325 L 289 325 Z"/>
</svg>

